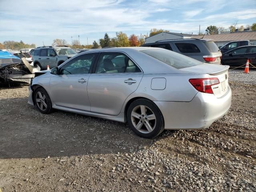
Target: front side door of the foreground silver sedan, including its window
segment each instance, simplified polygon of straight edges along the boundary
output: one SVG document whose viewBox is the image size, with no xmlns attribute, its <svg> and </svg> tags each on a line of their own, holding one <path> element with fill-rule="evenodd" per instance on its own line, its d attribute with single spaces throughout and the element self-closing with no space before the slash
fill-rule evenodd
<svg viewBox="0 0 256 192">
<path fill-rule="evenodd" d="M 72 58 L 50 79 L 51 98 L 57 106 L 90 111 L 88 78 L 97 53 Z"/>
</svg>

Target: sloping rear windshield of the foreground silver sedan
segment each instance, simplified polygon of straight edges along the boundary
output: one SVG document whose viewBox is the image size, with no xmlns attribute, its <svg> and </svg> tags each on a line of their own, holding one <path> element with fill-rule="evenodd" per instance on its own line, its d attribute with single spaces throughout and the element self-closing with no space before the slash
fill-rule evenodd
<svg viewBox="0 0 256 192">
<path fill-rule="evenodd" d="M 202 64 L 202 62 L 198 60 L 166 49 L 148 49 L 140 51 L 176 69 L 182 69 Z"/>
</svg>

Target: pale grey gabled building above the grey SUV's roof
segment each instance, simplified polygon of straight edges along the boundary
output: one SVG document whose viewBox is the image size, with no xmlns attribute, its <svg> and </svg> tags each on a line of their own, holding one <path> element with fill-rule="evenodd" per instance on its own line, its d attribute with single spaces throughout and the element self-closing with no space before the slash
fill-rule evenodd
<svg viewBox="0 0 256 192">
<path fill-rule="evenodd" d="M 194 35 L 192 34 L 161 32 L 161 33 L 147 37 L 145 39 L 145 43 L 152 43 L 160 40 L 170 40 L 170 39 L 190 39 L 192 37 L 194 38 Z"/>
</svg>

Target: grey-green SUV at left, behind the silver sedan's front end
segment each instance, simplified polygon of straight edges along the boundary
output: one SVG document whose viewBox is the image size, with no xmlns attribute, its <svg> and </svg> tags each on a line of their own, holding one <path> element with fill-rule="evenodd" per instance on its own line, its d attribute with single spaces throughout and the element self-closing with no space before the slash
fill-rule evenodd
<svg viewBox="0 0 256 192">
<path fill-rule="evenodd" d="M 34 66 L 40 66 L 41 70 L 54 68 L 62 64 L 77 53 L 68 46 L 42 46 L 34 50 Z"/>
</svg>

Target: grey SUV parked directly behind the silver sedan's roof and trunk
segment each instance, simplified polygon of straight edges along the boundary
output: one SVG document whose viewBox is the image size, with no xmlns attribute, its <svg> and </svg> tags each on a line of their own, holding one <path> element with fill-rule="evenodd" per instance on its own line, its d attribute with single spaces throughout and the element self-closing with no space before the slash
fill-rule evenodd
<svg viewBox="0 0 256 192">
<path fill-rule="evenodd" d="M 210 64 L 220 64 L 222 56 L 219 48 L 210 39 L 161 40 L 142 46 L 168 49 Z"/>
</svg>

